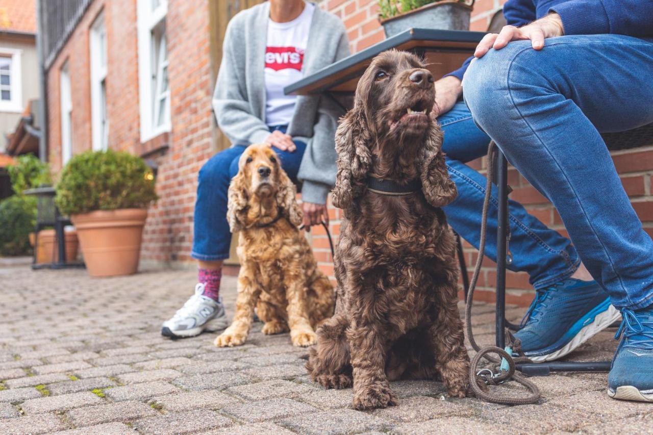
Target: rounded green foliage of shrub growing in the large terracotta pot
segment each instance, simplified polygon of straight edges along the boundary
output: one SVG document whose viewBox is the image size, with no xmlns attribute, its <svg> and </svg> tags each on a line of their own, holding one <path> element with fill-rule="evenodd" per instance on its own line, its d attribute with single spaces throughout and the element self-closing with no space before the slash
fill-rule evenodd
<svg viewBox="0 0 653 435">
<path fill-rule="evenodd" d="M 157 200 L 154 176 L 143 159 L 127 152 L 88 151 L 61 172 L 56 204 L 66 215 L 144 208 Z"/>
</svg>

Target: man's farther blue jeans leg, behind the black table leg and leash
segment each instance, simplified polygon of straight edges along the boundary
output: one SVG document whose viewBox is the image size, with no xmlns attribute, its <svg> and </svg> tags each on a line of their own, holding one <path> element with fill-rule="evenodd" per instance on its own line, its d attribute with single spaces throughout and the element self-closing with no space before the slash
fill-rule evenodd
<svg viewBox="0 0 653 435">
<path fill-rule="evenodd" d="M 443 150 L 447 167 L 458 188 L 458 197 L 444 208 L 447 221 L 462 238 L 478 248 L 481 241 L 481 210 L 485 198 L 485 176 L 465 163 L 486 155 L 490 138 L 479 130 L 462 101 L 438 118 L 444 132 Z M 485 254 L 496 261 L 498 200 L 496 188 L 488 211 Z M 569 278 L 580 264 L 569 239 L 547 228 L 516 201 L 508 202 L 511 229 L 510 251 L 515 272 L 528 272 L 536 289 Z"/>
</svg>

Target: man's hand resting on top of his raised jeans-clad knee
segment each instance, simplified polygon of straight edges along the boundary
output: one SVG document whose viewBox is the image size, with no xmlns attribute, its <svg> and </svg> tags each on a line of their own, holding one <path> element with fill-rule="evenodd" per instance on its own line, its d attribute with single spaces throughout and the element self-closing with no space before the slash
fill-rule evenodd
<svg viewBox="0 0 653 435">
<path fill-rule="evenodd" d="M 541 50 L 544 47 L 544 40 L 564 35 L 562 20 L 560 15 L 549 14 L 524 27 L 515 27 L 514 25 L 505 25 L 500 33 L 488 33 L 481 39 L 476 51 L 475 57 L 483 57 L 490 48 L 500 50 L 513 40 L 530 39 L 535 50 Z"/>
</svg>

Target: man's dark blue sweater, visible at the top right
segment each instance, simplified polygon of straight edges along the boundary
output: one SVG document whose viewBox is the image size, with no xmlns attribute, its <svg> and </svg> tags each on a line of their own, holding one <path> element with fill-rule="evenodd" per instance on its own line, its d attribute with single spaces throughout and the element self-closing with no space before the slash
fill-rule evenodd
<svg viewBox="0 0 653 435">
<path fill-rule="evenodd" d="M 508 0 L 503 5 L 505 20 L 516 27 L 549 12 L 560 15 L 565 35 L 653 36 L 653 0 Z M 447 76 L 462 80 L 471 59 Z"/>
</svg>

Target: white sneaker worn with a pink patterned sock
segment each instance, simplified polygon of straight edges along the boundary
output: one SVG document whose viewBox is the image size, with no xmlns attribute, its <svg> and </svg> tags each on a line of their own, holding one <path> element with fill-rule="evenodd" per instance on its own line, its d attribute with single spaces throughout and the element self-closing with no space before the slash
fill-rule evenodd
<svg viewBox="0 0 653 435">
<path fill-rule="evenodd" d="M 161 335 L 171 338 L 193 337 L 203 330 L 219 330 L 227 327 L 227 315 L 222 298 L 215 302 L 203 296 L 204 283 L 195 285 L 195 295 L 191 296 L 172 319 L 161 325 Z"/>
</svg>

